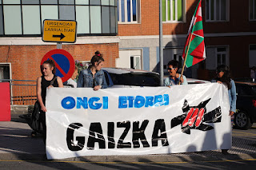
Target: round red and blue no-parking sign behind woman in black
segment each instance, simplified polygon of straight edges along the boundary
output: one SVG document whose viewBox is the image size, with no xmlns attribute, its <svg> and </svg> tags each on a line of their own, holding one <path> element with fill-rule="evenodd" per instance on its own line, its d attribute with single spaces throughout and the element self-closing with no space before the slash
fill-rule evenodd
<svg viewBox="0 0 256 170">
<path fill-rule="evenodd" d="M 74 58 L 64 49 L 50 50 L 42 57 L 41 65 L 46 60 L 53 60 L 56 65 L 56 76 L 61 77 L 65 82 L 70 79 L 74 73 Z"/>
</svg>

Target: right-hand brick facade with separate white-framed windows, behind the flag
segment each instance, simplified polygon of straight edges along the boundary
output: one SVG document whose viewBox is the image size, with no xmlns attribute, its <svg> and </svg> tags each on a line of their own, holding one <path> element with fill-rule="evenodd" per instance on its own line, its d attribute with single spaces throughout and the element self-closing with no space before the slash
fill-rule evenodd
<svg viewBox="0 0 256 170">
<path fill-rule="evenodd" d="M 136 7 L 135 19 L 129 18 L 133 11 L 126 5 L 129 2 Z M 186 34 L 198 2 L 162 0 L 164 68 L 172 59 L 182 61 Z M 206 60 L 186 69 L 186 76 L 210 80 L 216 67 L 225 64 L 230 66 L 232 77 L 250 77 L 250 67 L 256 65 L 255 8 L 255 0 L 202 0 Z M 122 0 L 118 10 L 120 42 L 116 65 L 134 67 L 137 59 L 135 68 L 158 71 L 159 1 Z"/>
</svg>

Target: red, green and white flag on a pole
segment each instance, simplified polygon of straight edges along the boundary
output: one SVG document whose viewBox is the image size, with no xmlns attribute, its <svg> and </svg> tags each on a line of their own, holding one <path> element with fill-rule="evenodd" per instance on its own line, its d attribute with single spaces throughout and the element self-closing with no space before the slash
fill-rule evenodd
<svg viewBox="0 0 256 170">
<path fill-rule="evenodd" d="M 190 67 L 206 59 L 206 49 L 202 30 L 202 0 L 198 2 L 198 6 L 194 11 L 193 18 L 190 22 L 190 29 L 188 31 L 182 57 L 183 59 L 186 57 L 186 67 Z"/>
</svg>

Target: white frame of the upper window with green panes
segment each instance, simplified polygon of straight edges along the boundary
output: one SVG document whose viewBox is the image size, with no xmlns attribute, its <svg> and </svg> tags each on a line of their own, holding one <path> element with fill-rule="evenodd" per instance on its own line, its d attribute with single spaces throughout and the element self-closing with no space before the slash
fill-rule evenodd
<svg viewBox="0 0 256 170">
<path fill-rule="evenodd" d="M 170 0 L 171 1 L 171 0 Z M 165 22 L 172 22 L 172 23 L 183 23 L 186 21 L 186 0 L 182 0 L 182 21 L 178 21 L 178 1 L 175 0 L 175 20 L 173 20 L 173 12 L 172 12 L 172 9 L 173 9 L 173 3 L 170 2 L 170 20 L 168 20 L 168 1 L 166 0 L 166 21 Z"/>
</svg>

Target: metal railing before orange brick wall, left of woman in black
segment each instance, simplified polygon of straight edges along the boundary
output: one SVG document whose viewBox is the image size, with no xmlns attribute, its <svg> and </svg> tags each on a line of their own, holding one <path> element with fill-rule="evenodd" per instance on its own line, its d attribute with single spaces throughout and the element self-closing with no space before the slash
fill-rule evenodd
<svg viewBox="0 0 256 170">
<path fill-rule="evenodd" d="M 36 81 L 0 79 L 0 82 L 10 82 L 11 105 L 34 105 L 37 100 Z"/>
</svg>

